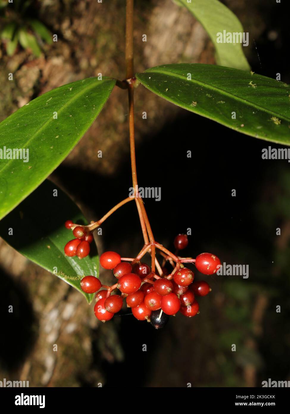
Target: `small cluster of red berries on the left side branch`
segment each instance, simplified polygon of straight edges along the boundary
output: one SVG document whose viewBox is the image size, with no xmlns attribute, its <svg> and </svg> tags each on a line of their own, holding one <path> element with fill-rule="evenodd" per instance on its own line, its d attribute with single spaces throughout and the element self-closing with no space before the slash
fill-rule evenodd
<svg viewBox="0 0 290 414">
<path fill-rule="evenodd" d="M 65 222 L 67 229 L 71 229 L 73 225 L 71 220 Z M 65 245 L 65 255 L 69 257 L 77 256 L 79 259 L 85 258 L 90 253 L 90 243 L 93 241 L 93 235 L 85 231 L 82 226 L 74 227 L 72 233 L 75 238 Z"/>
</svg>

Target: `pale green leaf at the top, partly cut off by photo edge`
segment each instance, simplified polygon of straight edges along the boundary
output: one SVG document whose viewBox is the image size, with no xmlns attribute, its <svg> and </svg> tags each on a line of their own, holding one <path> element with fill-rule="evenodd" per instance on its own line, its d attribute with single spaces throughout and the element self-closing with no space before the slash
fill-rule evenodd
<svg viewBox="0 0 290 414">
<path fill-rule="evenodd" d="M 234 67 L 241 70 L 250 70 L 249 63 L 244 56 L 241 43 L 217 43 L 218 33 L 243 33 L 244 29 L 235 14 L 218 0 L 187 0 L 175 1 L 183 5 L 204 26 L 216 48 L 216 62 L 218 65 Z"/>
</svg>

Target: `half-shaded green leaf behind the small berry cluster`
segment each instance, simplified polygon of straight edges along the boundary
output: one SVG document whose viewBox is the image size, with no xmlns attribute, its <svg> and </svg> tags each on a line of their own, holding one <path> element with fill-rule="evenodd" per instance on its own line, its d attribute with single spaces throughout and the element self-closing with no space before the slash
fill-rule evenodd
<svg viewBox="0 0 290 414">
<path fill-rule="evenodd" d="M 57 190 L 57 196 L 55 196 Z M 82 277 L 98 277 L 98 253 L 94 241 L 89 256 L 79 260 L 65 256 L 66 243 L 74 238 L 65 221 L 87 224 L 74 202 L 51 181 L 37 190 L 0 221 L 0 235 L 14 249 L 80 291 L 89 303 L 94 294 L 81 290 Z M 13 235 L 8 235 L 8 230 Z"/>
</svg>

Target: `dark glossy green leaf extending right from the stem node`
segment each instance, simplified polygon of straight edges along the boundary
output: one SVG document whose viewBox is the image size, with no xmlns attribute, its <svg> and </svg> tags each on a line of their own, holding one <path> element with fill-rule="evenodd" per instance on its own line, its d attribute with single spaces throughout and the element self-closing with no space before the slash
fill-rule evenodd
<svg viewBox="0 0 290 414">
<path fill-rule="evenodd" d="M 290 145 L 290 86 L 283 82 L 199 63 L 152 67 L 136 76 L 146 88 L 188 111 L 244 134 Z"/>
</svg>

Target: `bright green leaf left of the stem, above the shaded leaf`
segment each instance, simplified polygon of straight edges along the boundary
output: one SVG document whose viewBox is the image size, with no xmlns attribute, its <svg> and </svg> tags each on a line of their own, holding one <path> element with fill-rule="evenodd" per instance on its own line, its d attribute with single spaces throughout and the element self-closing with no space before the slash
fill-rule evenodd
<svg viewBox="0 0 290 414">
<path fill-rule="evenodd" d="M 65 159 L 101 112 L 115 82 L 89 78 L 61 86 L 0 123 L 0 219 Z M 28 149 L 29 161 L 3 159 L 7 149 Z"/>
</svg>

